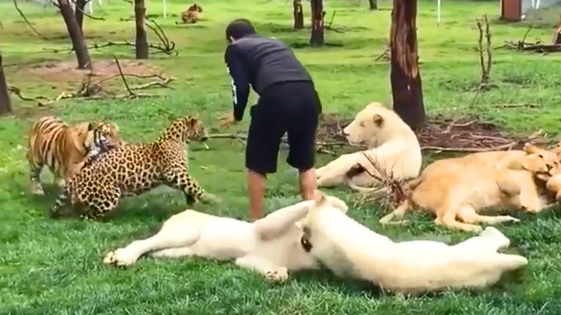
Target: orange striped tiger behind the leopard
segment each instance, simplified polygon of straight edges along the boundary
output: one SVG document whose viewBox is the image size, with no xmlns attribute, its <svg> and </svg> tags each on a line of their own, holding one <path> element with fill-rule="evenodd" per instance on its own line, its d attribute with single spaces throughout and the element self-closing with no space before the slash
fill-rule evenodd
<svg viewBox="0 0 561 315">
<path fill-rule="evenodd" d="M 66 180 L 82 168 L 86 156 L 93 159 L 102 152 L 124 144 L 118 135 L 118 127 L 111 123 L 94 121 L 70 126 L 58 117 L 40 118 L 29 131 L 26 154 L 31 193 L 45 194 L 40 182 L 44 165 L 53 173 L 54 182 L 64 187 Z"/>
</svg>

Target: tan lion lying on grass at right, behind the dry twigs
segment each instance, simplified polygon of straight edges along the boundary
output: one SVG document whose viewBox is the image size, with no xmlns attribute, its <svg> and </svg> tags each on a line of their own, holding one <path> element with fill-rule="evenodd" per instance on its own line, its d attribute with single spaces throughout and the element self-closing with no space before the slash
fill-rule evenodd
<svg viewBox="0 0 561 315">
<path fill-rule="evenodd" d="M 548 200 L 534 175 L 548 173 L 554 159 L 551 152 L 526 145 L 524 151 L 482 152 L 436 161 L 408 183 L 408 200 L 380 223 L 401 218 L 411 206 L 433 212 L 438 225 L 465 231 L 481 231 L 479 223 L 517 222 L 512 216 L 485 216 L 479 212 L 488 207 L 541 210 Z"/>
</svg>

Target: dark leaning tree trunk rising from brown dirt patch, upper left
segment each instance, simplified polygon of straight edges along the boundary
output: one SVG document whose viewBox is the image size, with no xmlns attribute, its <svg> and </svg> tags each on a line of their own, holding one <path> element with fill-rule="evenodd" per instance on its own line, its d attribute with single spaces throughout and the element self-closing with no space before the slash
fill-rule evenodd
<svg viewBox="0 0 561 315">
<path fill-rule="evenodd" d="M 58 5 L 61 10 L 62 18 L 65 19 L 68 35 L 70 35 L 70 39 L 72 40 L 72 49 L 76 53 L 76 59 L 78 59 L 78 68 L 91 69 L 88 47 L 86 46 L 84 35 L 80 31 L 80 27 L 76 21 L 76 16 L 72 11 L 72 7 L 68 3 L 68 0 L 58 0 Z"/>
</svg>

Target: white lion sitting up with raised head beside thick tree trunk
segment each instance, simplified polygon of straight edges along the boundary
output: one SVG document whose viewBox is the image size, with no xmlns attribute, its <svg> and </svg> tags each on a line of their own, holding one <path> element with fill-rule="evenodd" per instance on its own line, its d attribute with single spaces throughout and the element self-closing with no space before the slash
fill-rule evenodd
<svg viewBox="0 0 561 315">
<path fill-rule="evenodd" d="M 347 175 L 353 166 L 362 165 L 370 174 L 378 175 L 363 152 L 375 160 L 396 179 L 416 178 L 421 170 L 421 147 L 415 133 L 399 116 L 380 103 L 362 109 L 346 128 L 344 135 L 351 145 L 365 144 L 368 149 L 344 154 L 316 170 L 318 187 L 333 187 L 347 183 L 359 191 L 380 184 L 367 172 Z"/>
</svg>

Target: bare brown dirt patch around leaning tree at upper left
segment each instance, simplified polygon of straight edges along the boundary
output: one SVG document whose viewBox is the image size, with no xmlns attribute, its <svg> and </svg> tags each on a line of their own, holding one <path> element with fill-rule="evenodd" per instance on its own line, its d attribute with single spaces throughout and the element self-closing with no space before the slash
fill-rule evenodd
<svg viewBox="0 0 561 315">
<path fill-rule="evenodd" d="M 158 69 L 148 66 L 145 62 L 136 60 L 119 60 L 123 73 L 136 75 L 150 75 L 158 73 Z M 119 73 L 117 64 L 113 60 L 100 60 L 93 62 L 93 77 L 103 79 Z M 57 61 L 34 64 L 19 71 L 22 75 L 31 75 L 49 82 L 79 82 L 90 70 L 76 69 L 75 61 Z"/>
</svg>

